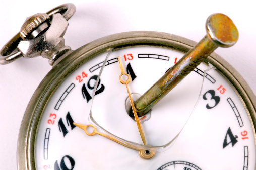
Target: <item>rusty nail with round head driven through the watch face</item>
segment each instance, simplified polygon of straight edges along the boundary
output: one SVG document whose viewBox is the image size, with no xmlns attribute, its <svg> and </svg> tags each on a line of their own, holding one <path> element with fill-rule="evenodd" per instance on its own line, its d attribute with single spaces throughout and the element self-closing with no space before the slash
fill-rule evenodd
<svg viewBox="0 0 256 170">
<path fill-rule="evenodd" d="M 213 14 L 208 17 L 206 31 L 207 35 L 135 102 L 138 116 L 145 115 L 218 46 L 231 47 L 238 40 L 236 26 L 224 14 Z"/>
</svg>

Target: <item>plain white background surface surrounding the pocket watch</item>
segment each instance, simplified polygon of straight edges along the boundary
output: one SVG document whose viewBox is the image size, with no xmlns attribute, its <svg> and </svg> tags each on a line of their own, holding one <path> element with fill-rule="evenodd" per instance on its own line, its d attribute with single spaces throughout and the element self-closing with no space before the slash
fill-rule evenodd
<svg viewBox="0 0 256 170">
<path fill-rule="evenodd" d="M 0 46 L 8 42 L 28 16 L 44 13 L 67 1 L 0 0 Z M 256 94 L 256 10 L 254 1 L 76 1 L 69 20 L 66 45 L 72 49 L 95 39 L 126 31 L 160 31 L 196 42 L 205 36 L 205 22 L 213 13 L 229 16 L 239 31 L 231 48 L 215 52 L 227 60 Z M 0 65 L 0 168 L 16 169 L 20 124 L 40 81 L 51 69 L 48 60 L 20 58 Z"/>
</svg>

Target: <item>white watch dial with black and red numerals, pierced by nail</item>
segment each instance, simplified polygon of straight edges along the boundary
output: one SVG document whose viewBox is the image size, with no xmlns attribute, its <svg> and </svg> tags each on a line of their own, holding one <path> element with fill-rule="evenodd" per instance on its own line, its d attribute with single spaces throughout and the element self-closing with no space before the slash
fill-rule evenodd
<svg viewBox="0 0 256 170">
<path fill-rule="evenodd" d="M 99 134 L 89 136 L 73 124 L 92 124 L 98 132 L 133 148 L 143 147 L 136 122 L 129 116 L 131 104 L 125 85 L 119 81 L 117 57 L 131 77 L 127 86 L 136 101 L 182 56 L 171 48 L 136 46 L 97 54 L 79 65 L 45 102 L 35 137 L 35 166 L 255 169 L 255 129 L 250 112 L 214 60 L 200 64 L 139 117 L 149 150 L 155 150 L 152 159 L 145 160 L 138 150 Z"/>
</svg>

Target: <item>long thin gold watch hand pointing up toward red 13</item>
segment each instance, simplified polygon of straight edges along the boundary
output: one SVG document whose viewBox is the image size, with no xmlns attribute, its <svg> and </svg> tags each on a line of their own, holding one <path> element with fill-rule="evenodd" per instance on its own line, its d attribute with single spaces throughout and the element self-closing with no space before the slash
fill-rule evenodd
<svg viewBox="0 0 256 170">
<path fill-rule="evenodd" d="M 144 133 L 143 133 L 143 130 L 142 130 L 142 127 L 141 127 L 141 123 L 140 123 L 140 120 L 138 118 L 138 115 L 137 115 L 137 112 L 136 112 L 136 109 L 135 109 L 135 106 L 134 106 L 134 102 L 132 100 L 132 97 L 131 97 L 131 94 L 130 94 L 130 91 L 129 91 L 129 88 L 127 86 L 127 84 L 130 82 L 131 80 L 131 77 L 129 74 L 126 74 L 124 72 L 124 69 L 122 67 L 122 63 L 121 63 L 121 60 L 120 58 L 118 57 L 118 61 L 119 61 L 119 65 L 120 65 L 120 69 L 121 69 L 121 75 L 119 76 L 119 80 L 122 84 L 125 84 L 126 85 L 126 89 L 127 89 L 127 92 L 128 92 L 128 96 L 129 96 L 129 99 L 130 99 L 130 103 L 131 103 L 131 106 L 132 106 L 132 110 L 133 110 L 133 113 L 134 113 L 134 118 L 135 118 L 135 121 L 136 121 L 136 124 L 138 126 L 138 130 L 139 130 L 139 133 L 141 135 L 141 139 L 142 139 L 142 142 L 144 145 L 146 145 L 146 140 L 145 140 L 145 136 L 144 136 Z M 127 77 L 127 80 L 122 80 L 122 77 L 123 75 L 126 75 Z M 124 78 L 124 77 L 123 77 Z"/>
</svg>

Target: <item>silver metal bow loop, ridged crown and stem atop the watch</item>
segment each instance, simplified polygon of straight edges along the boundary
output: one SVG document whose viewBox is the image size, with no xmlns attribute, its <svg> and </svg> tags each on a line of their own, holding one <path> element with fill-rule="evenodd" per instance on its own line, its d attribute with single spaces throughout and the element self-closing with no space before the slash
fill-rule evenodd
<svg viewBox="0 0 256 170">
<path fill-rule="evenodd" d="M 43 55 L 53 65 L 53 62 L 60 57 L 59 54 L 71 50 L 70 47 L 65 46 L 63 35 L 68 27 L 67 21 L 75 12 L 75 5 L 68 3 L 60 5 L 47 13 L 39 13 L 29 17 L 21 32 L 17 33 L 0 50 L 0 64 L 9 64 L 22 56 L 33 58 Z M 54 22 L 60 24 L 58 27 L 55 26 L 57 30 L 50 29 L 52 25 L 55 25 Z"/>
</svg>

